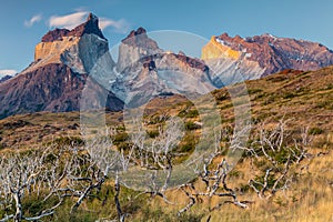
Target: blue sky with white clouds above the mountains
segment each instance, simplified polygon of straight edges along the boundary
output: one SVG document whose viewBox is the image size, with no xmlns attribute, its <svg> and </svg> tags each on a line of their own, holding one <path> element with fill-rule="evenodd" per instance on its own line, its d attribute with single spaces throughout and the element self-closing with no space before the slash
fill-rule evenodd
<svg viewBox="0 0 333 222">
<path fill-rule="evenodd" d="M 100 18 L 110 48 L 132 29 L 143 27 L 153 33 L 184 31 L 204 40 L 223 32 L 241 37 L 271 33 L 333 49 L 332 0 L 0 0 L 0 4 L 2 74 L 27 68 L 44 33 L 56 27 L 72 28 L 88 12 Z"/>
</svg>

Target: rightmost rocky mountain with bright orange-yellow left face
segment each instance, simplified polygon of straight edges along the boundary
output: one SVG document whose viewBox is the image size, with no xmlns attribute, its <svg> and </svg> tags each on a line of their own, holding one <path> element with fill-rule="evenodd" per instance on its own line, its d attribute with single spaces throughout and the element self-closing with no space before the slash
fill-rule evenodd
<svg viewBox="0 0 333 222">
<path fill-rule="evenodd" d="M 271 34 L 252 38 L 212 37 L 202 49 L 202 59 L 213 70 L 214 81 L 226 83 L 261 77 L 284 69 L 317 70 L 333 64 L 333 52 L 326 47 Z"/>
</svg>

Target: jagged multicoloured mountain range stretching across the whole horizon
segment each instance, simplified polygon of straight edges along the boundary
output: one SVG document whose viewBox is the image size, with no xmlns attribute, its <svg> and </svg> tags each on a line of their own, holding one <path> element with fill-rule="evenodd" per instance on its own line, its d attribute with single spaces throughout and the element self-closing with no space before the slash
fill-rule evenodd
<svg viewBox="0 0 333 222">
<path fill-rule="evenodd" d="M 326 47 L 271 34 L 213 36 L 201 58 L 191 58 L 164 51 L 143 28 L 121 41 L 114 61 L 98 17 L 90 13 L 72 30 L 49 31 L 36 46 L 34 61 L 16 77 L 1 79 L 0 118 L 78 111 L 83 89 L 92 109 L 119 111 L 161 94 L 202 94 L 285 69 L 310 71 L 331 64 L 333 52 Z"/>
</svg>

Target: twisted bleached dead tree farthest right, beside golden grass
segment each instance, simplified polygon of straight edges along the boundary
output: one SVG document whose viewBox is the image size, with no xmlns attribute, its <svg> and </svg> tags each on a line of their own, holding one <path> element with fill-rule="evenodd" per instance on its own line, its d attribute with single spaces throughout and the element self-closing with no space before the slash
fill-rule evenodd
<svg viewBox="0 0 333 222">
<path fill-rule="evenodd" d="M 249 185 L 261 199 L 270 199 L 278 191 L 289 188 L 294 178 L 294 168 L 309 157 L 311 138 L 307 130 L 301 132 L 299 140 L 286 130 L 287 121 L 280 120 L 273 129 L 261 124 L 252 143 L 253 178 Z M 261 173 L 256 173 L 261 172 Z"/>
</svg>

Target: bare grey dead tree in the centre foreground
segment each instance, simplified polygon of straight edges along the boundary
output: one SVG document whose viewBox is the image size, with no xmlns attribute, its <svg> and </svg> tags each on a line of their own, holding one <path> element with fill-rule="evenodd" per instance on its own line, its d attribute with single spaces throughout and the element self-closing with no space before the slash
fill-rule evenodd
<svg viewBox="0 0 333 222">
<path fill-rule="evenodd" d="M 137 165 L 150 172 L 150 176 L 147 178 L 147 190 L 141 194 L 150 194 L 152 198 L 161 196 L 164 202 L 172 204 L 167 199 L 165 191 L 170 185 L 173 161 L 180 155 L 174 152 L 174 149 L 183 137 L 183 125 L 180 119 L 171 118 L 164 127 L 159 127 L 159 134 L 155 138 L 145 142 L 143 142 L 145 138 L 141 133 L 142 130 L 138 130 L 132 139 L 135 142 L 140 141 L 138 143 L 139 157 L 131 157 Z"/>
</svg>

